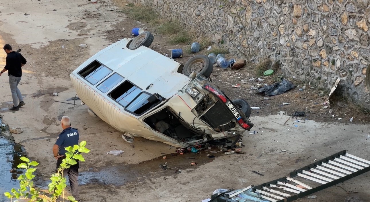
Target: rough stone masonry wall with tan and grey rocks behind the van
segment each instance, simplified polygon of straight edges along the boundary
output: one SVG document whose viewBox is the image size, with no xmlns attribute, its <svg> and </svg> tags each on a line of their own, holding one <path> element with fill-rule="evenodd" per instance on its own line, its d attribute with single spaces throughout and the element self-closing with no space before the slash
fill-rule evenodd
<svg viewBox="0 0 370 202">
<path fill-rule="evenodd" d="M 367 0 L 129 0 L 208 34 L 253 62 L 270 57 L 285 74 L 330 89 L 370 108 L 364 82 L 370 62 Z"/>
</svg>

